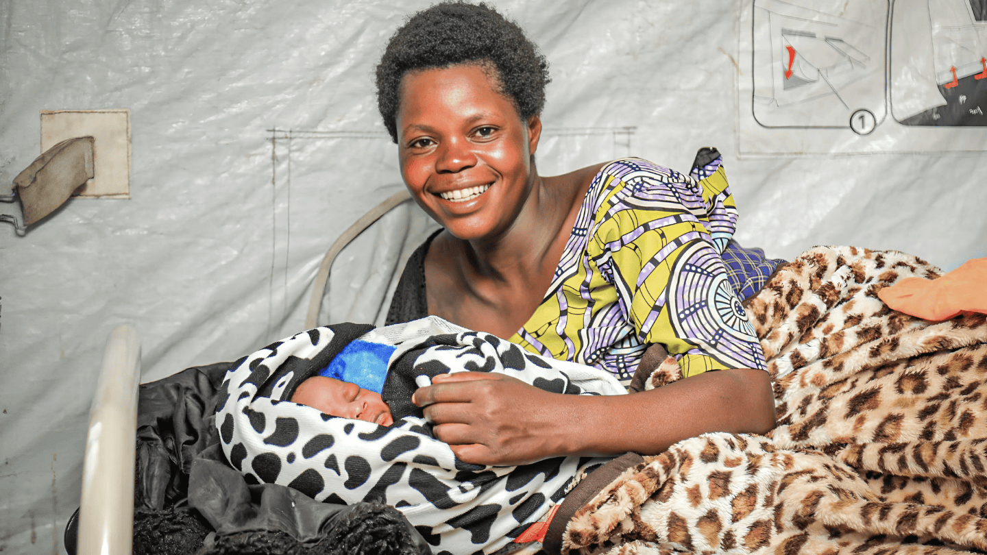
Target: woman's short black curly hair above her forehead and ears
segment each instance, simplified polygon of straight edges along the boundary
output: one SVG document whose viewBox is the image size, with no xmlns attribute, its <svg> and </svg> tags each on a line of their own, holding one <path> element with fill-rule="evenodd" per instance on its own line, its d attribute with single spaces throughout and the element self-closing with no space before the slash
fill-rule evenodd
<svg viewBox="0 0 987 555">
<path fill-rule="evenodd" d="M 377 107 L 394 142 L 402 77 L 470 62 L 493 64 L 498 92 L 511 100 L 521 119 L 541 114 L 550 79 L 538 46 L 486 4 L 443 2 L 412 16 L 391 37 L 377 65 Z"/>
</svg>

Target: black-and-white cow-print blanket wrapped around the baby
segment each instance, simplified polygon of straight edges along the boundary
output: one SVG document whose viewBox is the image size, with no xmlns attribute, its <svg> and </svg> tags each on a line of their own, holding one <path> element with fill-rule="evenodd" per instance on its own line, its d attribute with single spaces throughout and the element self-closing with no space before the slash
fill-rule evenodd
<svg viewBox="0 0 987 555">
<path fill-rule="evenodd" d="M 399 419 L 394 412 L 395 424 L 383 427 L 288 401 L 301 381 L 357 338 L 396 346 L 389 372 L 413 371 L 401 380 L 406 387 L 427 385 L 435 368 L 448 368 L 500 372 L 561 393 L 625 392 L 596 368 L 537 357 L 434 317 L 368 328 L 341 324 L 309 330 L 243 358 L 227 373 L 216 425 L 227 459 L 248 482 L 286 485 L 331 503 L 381 501 L 406 515 L 436 553 L 493 553 L 559 502 L 573 477 L 605 460 L 468 464 L 432 437 L 418 416 Z"/>
</svg>

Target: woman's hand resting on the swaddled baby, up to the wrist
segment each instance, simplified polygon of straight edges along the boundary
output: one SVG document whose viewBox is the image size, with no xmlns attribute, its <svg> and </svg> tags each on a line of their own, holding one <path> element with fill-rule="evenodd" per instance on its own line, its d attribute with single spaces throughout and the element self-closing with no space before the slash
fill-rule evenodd
<svg viewBox="0 0 987 555">
<path fill-rule="evenodd" d="M 568 397 L 504 374 L 455 372 L 435 376 L 412 401 L 424 408 L 435 436 L 449 443 L 460 460 L 502 466 L 572 449 L 557 430 L 559 411 L 566 411 L 566 401 L 575 396 Z"/>
</svg>

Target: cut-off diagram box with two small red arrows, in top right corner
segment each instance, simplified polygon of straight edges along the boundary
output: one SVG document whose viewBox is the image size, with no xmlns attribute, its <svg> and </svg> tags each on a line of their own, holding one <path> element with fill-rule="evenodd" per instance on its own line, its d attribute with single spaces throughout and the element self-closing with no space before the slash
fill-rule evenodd
<svg viewBox="0 0 987 555">
<path fill-rule="evenodd" d="M 987 0 L 895 0 L 890 74 L 899 122 L 987 125 Z"/>
</svg>

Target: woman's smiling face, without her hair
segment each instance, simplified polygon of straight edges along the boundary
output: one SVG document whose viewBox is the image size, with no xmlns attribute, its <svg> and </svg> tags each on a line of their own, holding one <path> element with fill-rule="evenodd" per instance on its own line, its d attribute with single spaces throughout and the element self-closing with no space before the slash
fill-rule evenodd
<svg viewBox="0 0 987 555">
<path fill-rule="evenodd" d="M 397 116 L 405 184 L 454 236 L 506 231 L 534 183 L 541 121 L 522 120 L 476 64 L 405 75 Z"/>
</svg>

